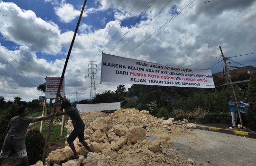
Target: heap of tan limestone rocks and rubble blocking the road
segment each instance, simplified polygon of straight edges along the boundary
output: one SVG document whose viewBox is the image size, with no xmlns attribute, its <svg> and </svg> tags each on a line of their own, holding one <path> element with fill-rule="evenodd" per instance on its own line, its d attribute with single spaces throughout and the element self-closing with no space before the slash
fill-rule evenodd
<svg viewBox="0 0 256 166">
<path fill-rule="evenodd" d="M 55 166 L 201 165 L 194 159 L 182 158 L 173 148 L 173 138 L 188 133 L 186 125 L 173 125 L 173 118 L 158 119 L 148 111 L 139 111 L 135 108 L 119 109 L 109 116 L 103 114 L 98 111 L 81 114 L 86 125 L 84 137 L 93 152 L 88 153 L 76 139 L 74 144 L 80 155 L 78 159 L 68 161 L 73 152 L 66 146 L 64 149 L 49 153 L 45 164 L 50 161 Z M 68 127 L 70 132 L 73 130 L 70 121 L 65 127 Z M 157 140 L 148 140 L 146 133 L 157 135 Z"/>
</svg>

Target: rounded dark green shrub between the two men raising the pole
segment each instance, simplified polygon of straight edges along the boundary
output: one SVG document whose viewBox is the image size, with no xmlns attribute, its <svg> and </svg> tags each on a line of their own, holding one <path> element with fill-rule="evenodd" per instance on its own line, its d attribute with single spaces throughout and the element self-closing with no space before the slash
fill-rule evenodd
<svg viewBox="0 0 256 166">
<path fill-rule="evenodd" d="M 43 134 L 38 129 L 30 129 L 27 132 L 25 143 L 29 164 L 36 164 L 38 160 L 42 159 L 44 152 L 45 139 Z"/>
</svg>

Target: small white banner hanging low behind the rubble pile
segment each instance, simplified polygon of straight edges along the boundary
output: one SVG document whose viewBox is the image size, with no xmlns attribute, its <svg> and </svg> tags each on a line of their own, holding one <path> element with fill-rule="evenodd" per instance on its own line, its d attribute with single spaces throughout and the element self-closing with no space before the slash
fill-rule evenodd
<svg viewBox="0 0 256 166">
<path fill-rule="evenodd" d="M 99 104 L 77 104 L 76 108 L 80 112 L 86 111 L 105 111 L 105 110 L 115 110 L 120 109 L 120 102 L 117 103 L 99 103 Z"/>
</svg>

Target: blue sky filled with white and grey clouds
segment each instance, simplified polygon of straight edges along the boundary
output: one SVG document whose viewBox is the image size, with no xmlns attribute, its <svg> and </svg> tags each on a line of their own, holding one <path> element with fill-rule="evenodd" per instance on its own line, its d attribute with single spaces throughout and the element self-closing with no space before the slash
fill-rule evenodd
<svg viewBox="0 0 256 166">
<path fill-rule="evenodd" d="M 0 96 L 31 101 L 44 95 L 36 88 L 46 76 L 61 76 L 82 4 L 0 1 Z M 244 55 L 256 52 L 255 18 L 256 0 L 87 0 L 65 73 L 66 96 L 73 101 L 77 91 L 78 100 L 89 99 L 90 61 L 97 64 L 96 91 L 116 90 L 117 83 L 99 84 L 101 51 L 216 73 L 221 45 L 226 57 L 243 55 L 229 66 L 256 66 L 256 54 Z"/>
</svg>

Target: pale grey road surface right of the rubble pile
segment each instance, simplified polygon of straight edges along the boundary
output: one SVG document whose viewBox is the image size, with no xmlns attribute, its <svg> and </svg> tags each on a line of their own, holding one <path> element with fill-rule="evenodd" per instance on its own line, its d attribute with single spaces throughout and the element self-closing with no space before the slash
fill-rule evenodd
<svg viewBox="0 0 256 166">
<path fill-rule="evenodd" d="M 256 166 L 256 139 L 205 130 L 189 130 L 187 137 L 173 139 L 183 158 L 204 166 Z"/>
</svg>

